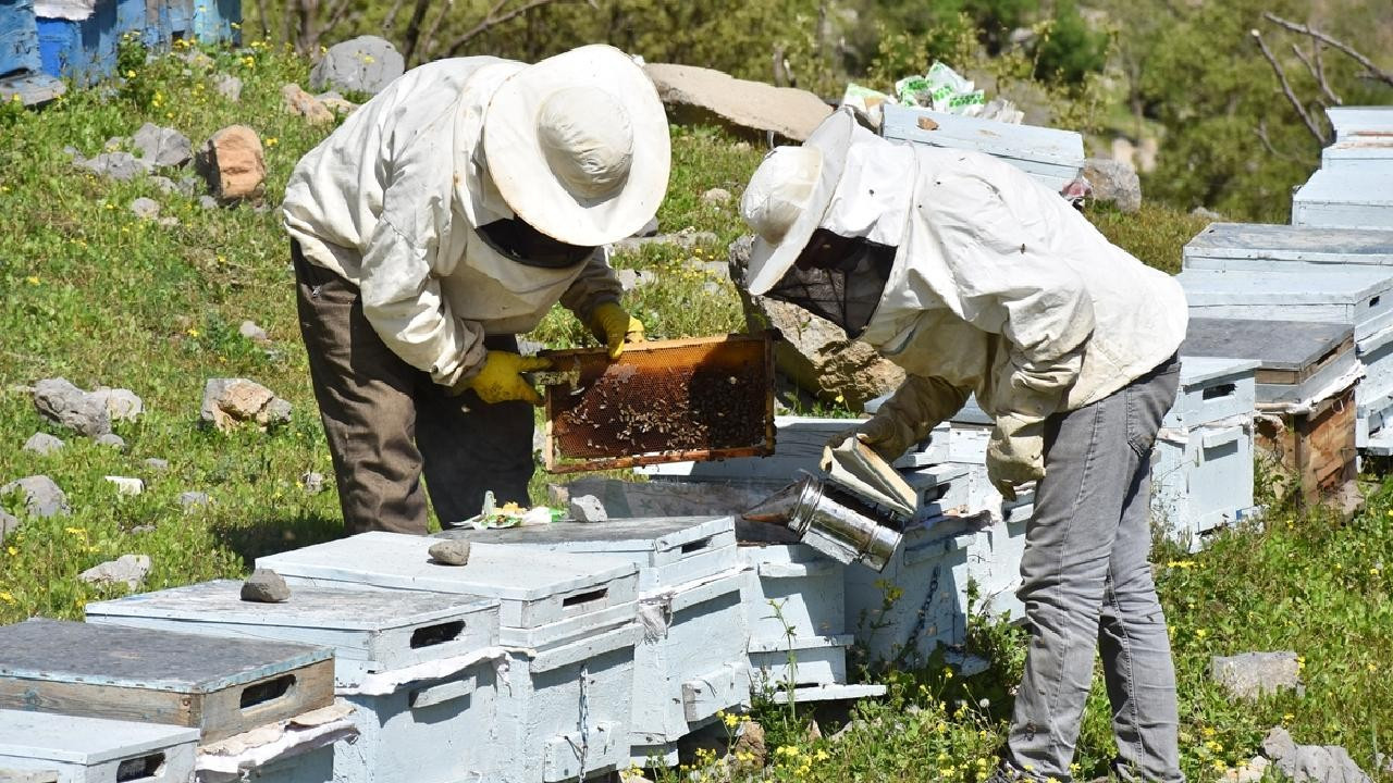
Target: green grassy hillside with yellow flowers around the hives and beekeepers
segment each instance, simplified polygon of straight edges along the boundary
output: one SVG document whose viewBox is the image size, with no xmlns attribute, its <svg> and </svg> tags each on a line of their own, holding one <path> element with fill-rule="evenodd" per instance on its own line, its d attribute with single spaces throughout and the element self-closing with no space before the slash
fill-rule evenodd
<svg viewBox="0 0 1393 783">
<path fill-rule="evenodd" d="M 70 517 L 29 520 L 0 546 L 0 621 L 29 616 L 77 619 L 88 600 L 125 592 L 96 589 L 77 574 L 124 553 L 153 560 L 146 588 L 240 575 L 259 553 L 337 535 L 333 488 L 309 495 L 305 471 L 332 475 L 308 382 L 294 312 L 286 238 L 274 209 L 205 210 L 198 198 L 166 195 L 148 177 L 98 178 L 70 163 L 145 121 L 171 125 L 195 144 L 244 123 L 266 144 L 267 203 L 279 202 L 295 160 L 325 132 L 281 107 L 280 88 L 304 84 L 305 64 L 265 46 L 170 56 L 128 68 L 124 84 L 71 93 L 40 113 L 0 109 L 0 483 L 47 474 L 67 492 Z M 219 74 L 244 79 L 241 100 L 216 91 Z M 620 266 L 657 270 L 628 297 L 655 337 L 709 334 L 742 323 L 729 281 L 690 263 L 722 261 L 740 233 L 734 201 L 701 199 L 709 188 L 736 199 L 761 150 L 720 131 L 676 128 L 664 230 L 694 227 L 717 241 L 691 252 L 649 249 Z M 174 176 L 178 178 L 178 174 Z M 160 226 L 138 219 L 138 196 L 160 202 Z M 1177 269 L 1180 245 L 1202 227 L 1183 213 L 1148 206 L 1139 215 L 1094 215 L 1138 256 Z M 269 344 L 242 339 L 244 319 Z M 553 346 L 588 336 L 564 312 L 535 334 Z M 65 376 L 82 387 L 130 387 L 149 412 L 117 425 L 128 451 L 96 446 L 46 425 L 25 389 Z M 290 426 L 272 433 L 219 435 L 198 426 L 205 379 L 247 376 L 294 404 Z M 36 431 L 67 440 L 49 457 L 21 450 Z M 155 472 L 143 460 L 169 460 Z M 118 497 L 106 475 L 141 476 L 148 489 Z M 213 503 L 185 511 L 178 495 Z M 0 499 L 18 513 L 15 497 Z M 1258 751 L 1266 729 L 1291 727 L 1298 741 L 1347 745 L 1365 766 L 1390 745 L 1393 497 L 1379 490 L 1350 524 L 1279 513 L 1261 529 L 1222 538 L 1199 556 L 1158 552 L 1160 587 L 1174 631 L 1181 679 L 1183 748 L 1192 780 L 1217 780 Z M 861 708 L 858 729 L 840 740 L 807 740 L 807 711 L 762 712 L 775 780 L 954 780 L 975 783 L 993 763 L 1007 688 L 1021 646 L 990 624 L 978 631 L 993 672 L 961 681 L 943 670 L 894 673 L 892 697 Z M 1304 695 L 1230 704 L 1208 680 L 1211 655 L 1294 649 L 1304 656 Z M 983 701 L 985 699 L 985 701 Z M 829 729 L 827 723 L 823 729 Z M 827 731 L 830 734 L 830 730 Z M 1100 775 L 1112 750 L 1102 687 L 1091 704 L 1080 777 Z"/>
</svg>

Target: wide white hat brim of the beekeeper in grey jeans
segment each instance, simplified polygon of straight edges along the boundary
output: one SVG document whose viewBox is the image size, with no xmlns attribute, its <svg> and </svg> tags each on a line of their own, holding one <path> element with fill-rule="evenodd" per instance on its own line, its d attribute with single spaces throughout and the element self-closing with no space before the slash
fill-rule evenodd
<svg viewBox="0 0 1393 783">
<path fill-rule="evenodd" d="M 841 170 L 847 162 L 847 149 L 851 146 L 853 131 L 857 128 L 855 116 L 850 109 L 839 109 L 823 120 L 816 130 L 802 142 L 804 146 L 815 146 L 822 152 L 822 169 L 818 181 L 812 187 L 808 206 L 798 213 L 797 220 L 784 233 L 783 238 L 769 242 L 762 237 L 755 237 L 755 244 L 749 251 L 749 270 L 745 288 L 759 297 L 773 288 L 788 272 L 788 268 L 798 261 L 798 255 L 808 247 L 812 233 L 822 224 L 832 195 L 841 181 Z"/>
</svg>

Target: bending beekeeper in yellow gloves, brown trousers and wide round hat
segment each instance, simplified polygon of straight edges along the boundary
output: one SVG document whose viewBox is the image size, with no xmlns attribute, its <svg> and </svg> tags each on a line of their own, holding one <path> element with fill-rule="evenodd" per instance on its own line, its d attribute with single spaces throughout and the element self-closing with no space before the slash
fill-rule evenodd
<svg viewBox="0 0 1393 783">
<path fill-rule="evenodd" d="M 486 490 L 527 503 L 528 332 L 560 301 L 617 357 L 644 326 L 603 245 L 667 189 L 667 118 L 625 54 L 421 65 L 305 155 L 286 187 L 299 326 L 350 532 L 426 532 Z"/>
</svg>

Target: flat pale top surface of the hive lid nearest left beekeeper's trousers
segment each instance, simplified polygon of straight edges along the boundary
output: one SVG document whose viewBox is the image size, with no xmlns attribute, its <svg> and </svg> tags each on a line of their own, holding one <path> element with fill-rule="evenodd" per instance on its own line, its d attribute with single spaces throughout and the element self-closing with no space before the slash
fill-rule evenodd
<svg viewBox="0 0 1393 783">
<path fill-rule="evenodd" d="M 435 543 L 439 539 L 365 532 L 259 557 L 256 567 L 272 568 L 286 577 L 468 594 L 504 602 L 540 600 L 638 573 L 638 566 L 618 557 L 581 557 L 496 543 L 474 545 L 467 566 L 442 566 L 426 553 Z"/>
</svg>

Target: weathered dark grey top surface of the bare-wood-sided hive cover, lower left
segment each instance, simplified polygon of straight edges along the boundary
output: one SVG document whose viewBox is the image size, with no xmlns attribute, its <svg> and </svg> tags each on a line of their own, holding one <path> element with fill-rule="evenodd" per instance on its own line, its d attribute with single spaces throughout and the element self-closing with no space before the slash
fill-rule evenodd
<svg viewBox="0 0 1393 783">
<path fill-rule="evenodd" d="M 63 651 L 63 655 L 54 655 Z M 327 648 L 63 620 L 0 627 L 0 677 L 208 694 L 330 658 Z"/>
</svg>

